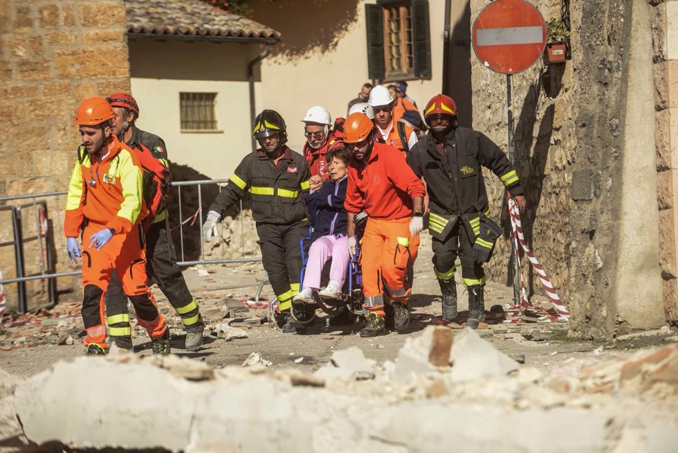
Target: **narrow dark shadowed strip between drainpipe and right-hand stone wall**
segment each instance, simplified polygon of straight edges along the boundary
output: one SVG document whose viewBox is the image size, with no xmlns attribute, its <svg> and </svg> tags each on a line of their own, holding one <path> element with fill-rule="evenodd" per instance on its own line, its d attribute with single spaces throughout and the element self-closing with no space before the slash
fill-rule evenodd
<svg viewBox="0 0 678 453">
<path fill-rule="evenodd" d="M 448 63 L 449 95 L 459 109 L 459 125 L 473 127 L 473 87 L 471 87 L 471 6 L 467 0 L 464 13 L 452 27 L 452 43 Z"/>
</svg>

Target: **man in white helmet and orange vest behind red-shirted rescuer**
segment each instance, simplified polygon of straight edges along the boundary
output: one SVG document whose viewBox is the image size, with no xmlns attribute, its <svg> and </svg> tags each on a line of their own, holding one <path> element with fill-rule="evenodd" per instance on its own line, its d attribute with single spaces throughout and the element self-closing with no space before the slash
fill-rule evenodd
<svg viewBox="0 0 678 453">
<path fill-rule="evenodd" d="M 377 141 L 398 148 L 404 156 L 412 149 L 417 138 L 412 127 L 398 123 L 400 116 L 398 118 L 394 116 L 395 102 L 383 85 L 377 85 L 369 92 L 369 105 L 374 111 L 374 124 L 378 130 Z"/>
</svg>

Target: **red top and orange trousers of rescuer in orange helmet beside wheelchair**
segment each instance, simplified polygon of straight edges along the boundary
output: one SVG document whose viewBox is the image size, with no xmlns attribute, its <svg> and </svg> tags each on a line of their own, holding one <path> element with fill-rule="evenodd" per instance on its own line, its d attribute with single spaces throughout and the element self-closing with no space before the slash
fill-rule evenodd
<svg viewBox="0 0 678 453">
<path fill-rule="evenodd" d="M 407 265 L 419 249 L 419 236 L 410 236 L 412 199 L 423 195 L 421 180 L 396 148 L 375 142 L 367 163 L 351 159 L 344 207 L 368 215 L 360 245 L 363 294 L 365 308 L 382 317 L 385 291 L 404 305 L 410 297 Z"/>
</svg>

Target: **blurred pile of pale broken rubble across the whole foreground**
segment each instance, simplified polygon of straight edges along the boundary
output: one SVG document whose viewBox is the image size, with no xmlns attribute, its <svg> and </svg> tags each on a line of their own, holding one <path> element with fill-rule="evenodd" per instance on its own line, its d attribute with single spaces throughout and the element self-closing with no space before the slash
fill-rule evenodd
<svg viewBox="0 0 678 453">
<path fill-rule="evenodd" d="M 0 373 L 0 445 L 668 452 L 678 445 L 677 359 L 671 345 L 545 375 L 473 330 L 432 326 L 395 362 L 377 366 L 354 347 L 313 375 L 268 368 L 258 353 L 219 369 L 172 355 L 81 357 L 21 382 Z"/>
</svg>

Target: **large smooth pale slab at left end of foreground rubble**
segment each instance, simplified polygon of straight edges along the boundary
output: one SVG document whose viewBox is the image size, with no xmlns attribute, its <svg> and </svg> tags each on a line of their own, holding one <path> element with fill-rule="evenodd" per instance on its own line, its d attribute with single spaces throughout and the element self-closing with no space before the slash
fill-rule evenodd
<svg viewBox="0 0 678 453">
<path fill-rule="evenodd" d="M 152 364 L 80 357 L 21 382 L 13 401 L 35 443 L 177 451 L 189 443 L 193 401 L 200 393 L 198 386 Z M 168 395 L 183 403 L 167 410 Z"/>
</svg>

